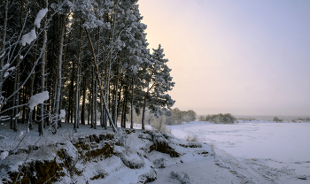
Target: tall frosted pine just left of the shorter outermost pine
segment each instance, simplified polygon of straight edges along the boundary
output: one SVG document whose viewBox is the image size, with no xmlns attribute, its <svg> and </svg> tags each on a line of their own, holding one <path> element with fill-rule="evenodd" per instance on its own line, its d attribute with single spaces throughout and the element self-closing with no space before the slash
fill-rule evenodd
<svg viewBox="0 0 310 184">
<path fill-rule="evenodd" d="M 122 100 L 118 103 L 122 103 L 122 108 L 121 110 L 114 110 L 114 113 L 116 111 L 122 111 L 121 121 L 122 126 L 125 126 L 128 101 L 131 103 L 131 113 L 133 114 L 135 98 L 134 88 L 135 86 L 141 86 L 143 84 L 141 81 L 142 79 L 139 77 L 141 76 L 139 75 L 139 70 L 144 62 L 150 62 L 148 60 L 148 58 L 150 58 L 150 51 L 147 49 L 148 43 L 146 42 L 146 34 L 144 33 L 146 25 L 141 22 L 143 17 L 139 12 L 136 1 L 120 1 L 120 3 L 121 16 L 118 20 L 123 30 L 120 35 L 120 41 L 124 43 L 124 46 L 120 48 L 120 79 L 123 81 L 122 84 L 127 84 L 130 88 L 124 88 L 123 94 L 119 94 L 120 96 L 122 95 Z M 114 105 L 114 108 L 118 106 L 120 106 L 120 104 Z M 136 108 L 138 108 L 138 106 L 136 106 Z M 114 117 L 115 116 L 117 116 L 117 114 L 114 114 Z M 133 120 L 131 122 L 131 127 L 132 126 Z"/>
</svg>

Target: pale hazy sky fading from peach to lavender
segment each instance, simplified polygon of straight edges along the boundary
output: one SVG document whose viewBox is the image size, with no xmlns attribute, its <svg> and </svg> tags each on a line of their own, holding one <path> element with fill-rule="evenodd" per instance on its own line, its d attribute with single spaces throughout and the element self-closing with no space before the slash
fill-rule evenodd
<svg viewBox="0 0 310 184">
<path fill-rule="evenodd" d="M 139 0 L 150 49 L 172 69 L 174 107 L 310 115 L 309 0 Z"/>
</svg>

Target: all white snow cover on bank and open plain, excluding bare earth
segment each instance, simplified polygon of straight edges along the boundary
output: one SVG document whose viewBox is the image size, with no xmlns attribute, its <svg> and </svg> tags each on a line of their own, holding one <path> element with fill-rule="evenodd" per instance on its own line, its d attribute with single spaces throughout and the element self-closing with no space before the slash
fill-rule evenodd
<svg viewBox="0 0 310 184">
<path fill-rule="evenodd" d="M 38 146 L 38 149 L 33 150 L 27 158 L 29 161 L 52 160 L 58 157 L 57 150 L 63 147 L 66 148 L 67 153 L 74 150 L 71 155 L 76 161 L 75 169 L 81 173 L 71 177 L 66 174 L 65 177 L 59 178 L 59 183 L 85 183 L 85 180 L 88 180 L 89 183 L 127 184 L 140 182 L 143 180 L 142 176 L 156 177 L 157 180 L 152 181 L 152 184 L 306 184 L 310 180 L 310 134 L 308 134 L 310 123 L 280 124 L 252 121 L 221 125 L 195 121 L 168 126 L 176 138 L 168 135 L 164 138 L 161 133 L 138 130 L 136 133 L 123 134 L 126 131 L 121 131 L 120 128 L 120 133 L 115 134 L 113 142 L 123 140 L 123 143 L 113 147 L 112 157 L 100 161 L 94 157 L 88 162 L 84 162 L 83 157 L 77 154 L 77 149 L 72 146 L 74 140 L 85 139 L 95 134 L 99 137 L 103 134 L 113 134 L 111 127 L 104 130 L 98 126 L 95 130 L 89 126 L 80 125 L 75 133 L 73 124 L 64 123 L 63 127 L 58 129 L 58 134 L 51 134 L 44 129 L 42 137 L 38 136 L 37 131 L 27 132 L 26 125 L 19 124 L 17 133 L 14 133 L 8 124 L 1 124 L 0 127 L 0 165 L 10 165 L 12 170 L 17 170 L 17 165 L 20 165 L 27 156 L 27 153 L 22 151 L 18 151 L 17 155 L 14 153 L 9 155 L 9 151 L 16 147 L 22 150 L 28 149 L 29 146 Z M 151 126 L 147 127 L 151 129 Z M 141 125 L 136 124 L 135 128 L 140 129 Z M 192 137 L 197 135 L 198 141 L 203 144 L 184 142 L 184 138 L 188 135 Z M 21 140 L 23 141 L 19 144 Z M 169 154 L 157 150 L 148 151 L 151 144 L 158 142 L 156 140 L 167 142 L 167 145 L 171 145 L 180 157 L 170 157 Z M 59 145 L 58 142 L 64 143 Z M 111 141 L 103 140 L 103 142 L 90 142 L 90 144 L 101 148 L 106 145 L 106 142 Z M 58 145 L 59 148 L 50 149 L 49 145 Z M 201 145 L 201 148 L 190 147 L 190 145 Z M 97 147 L 94 147 L 94 150 L 97 150 Z M 58 159 L 61 161 L 62 158 L 58 157 Z M 128 160 L 142 166 L 129 168 L 126 165 Z M 66 171 L 66 168 L 63 171 Z M 5 174 L 6 172 L 1 170 L 0 179 L 5 178 Z"/>
</svg>

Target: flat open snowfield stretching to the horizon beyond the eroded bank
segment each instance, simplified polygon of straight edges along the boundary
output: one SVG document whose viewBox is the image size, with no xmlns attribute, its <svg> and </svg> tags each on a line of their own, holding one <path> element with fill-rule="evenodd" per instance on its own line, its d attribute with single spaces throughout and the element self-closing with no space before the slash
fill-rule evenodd
<svg viewBox="0 0 310 184">
<path fill-rule="evenodd" d="M 195 121 L 167 127 L 177 138 L 197 135 L 213 145 L 215 162 L 250 183 L 309 183 L 310 123 Z"/>
</svg>

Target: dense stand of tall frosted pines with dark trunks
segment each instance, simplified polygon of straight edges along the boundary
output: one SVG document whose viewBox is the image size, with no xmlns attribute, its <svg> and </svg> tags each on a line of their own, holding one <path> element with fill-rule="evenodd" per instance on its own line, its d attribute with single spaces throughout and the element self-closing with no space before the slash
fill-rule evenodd
<svg viewBox="0 0 310 184">
<path fill-rule="evenodd" d="M 171 69 L 142 19 L 137 0 L 1 0 L 0 120 L 42 135 L 62 117 L 117 131 L 134 113 L 142 129 L 146 110 L 170 116 Z"/>
</svg>

